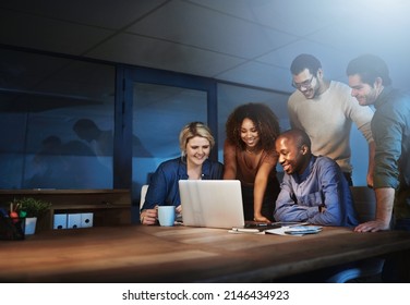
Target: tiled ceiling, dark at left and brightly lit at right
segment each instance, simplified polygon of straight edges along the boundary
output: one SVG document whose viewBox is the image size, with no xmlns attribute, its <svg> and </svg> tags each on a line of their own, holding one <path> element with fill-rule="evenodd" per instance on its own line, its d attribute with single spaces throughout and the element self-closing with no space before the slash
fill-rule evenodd
<svg viewBox="0 0 410 305">
<path fill-rule="evenodd" d="M 373 52 L 405 88 L 409 16 L 407 0 L 1 0 L 0 44 L 289 93 L 299 53 L 347 82 Z"/>
</svg>

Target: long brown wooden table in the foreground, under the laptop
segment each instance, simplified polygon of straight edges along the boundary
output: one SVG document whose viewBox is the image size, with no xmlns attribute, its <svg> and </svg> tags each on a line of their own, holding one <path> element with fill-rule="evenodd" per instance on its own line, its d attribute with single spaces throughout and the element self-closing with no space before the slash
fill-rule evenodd
<svg viewBox="0 0 410 305">
<path fill-rule="evenodd" d="M 409 251 L 409 232 L 233 234 L 185 227 L 44 231 L 1 242 L 2 282 L 258 282 Z"/>
</svg>

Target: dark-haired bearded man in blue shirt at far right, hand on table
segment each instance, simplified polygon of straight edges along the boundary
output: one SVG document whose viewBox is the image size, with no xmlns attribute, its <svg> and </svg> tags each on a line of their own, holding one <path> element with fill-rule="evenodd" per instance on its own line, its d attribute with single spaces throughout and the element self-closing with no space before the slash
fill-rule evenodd
<svg viewBox="0 0 410 305">
<path fill-rule="evenodd" d="M 391 87 L 387 64 L 373 54 L 350 61 L 347 75 L 351 95 L 361 106 L 376 109 L 371 123 L 376 144 L 376 218 L 359 224 L 355 231 L 376 232 L 390 225 L 410 231 L 410 95 Z M 401 258 L 386 261 L 385 279 L 409 280 L 409 258 Z"/>
</svg>

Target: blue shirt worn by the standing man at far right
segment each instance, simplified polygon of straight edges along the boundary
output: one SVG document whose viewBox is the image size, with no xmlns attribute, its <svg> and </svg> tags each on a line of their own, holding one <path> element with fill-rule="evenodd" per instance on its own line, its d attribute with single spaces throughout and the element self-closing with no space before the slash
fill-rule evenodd
<svg viewBox="0 0 410 305">
<path fill-rule="evenodd" d="M 374 187 L 396 188 L 395 217 L 410 218 L 410 95 L 387 86 L 374 106 Z"/>
</svg>

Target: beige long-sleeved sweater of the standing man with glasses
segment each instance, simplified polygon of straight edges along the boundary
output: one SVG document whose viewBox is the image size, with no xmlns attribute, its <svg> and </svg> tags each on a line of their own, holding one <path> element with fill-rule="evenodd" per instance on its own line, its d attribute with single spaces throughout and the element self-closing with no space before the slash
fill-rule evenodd
<svg viewBox="0 0 410 305">
<path fill-rule="evenodd" d="M 370 122 L 373 111 L 360 106 L 346 84 L 330 82 L 318 97 L 306 99 L 296 90 L 288 100 L 292 127 L 304 130 L 312 141 L 312 152 L 336 160 L 343 172 L 351 172 L 350 130 L 352 122 L 367 143 L 373 141 Z"/>
</svg>

